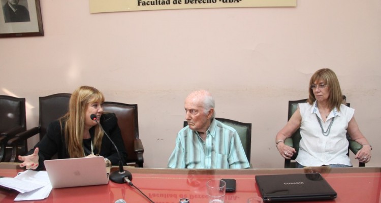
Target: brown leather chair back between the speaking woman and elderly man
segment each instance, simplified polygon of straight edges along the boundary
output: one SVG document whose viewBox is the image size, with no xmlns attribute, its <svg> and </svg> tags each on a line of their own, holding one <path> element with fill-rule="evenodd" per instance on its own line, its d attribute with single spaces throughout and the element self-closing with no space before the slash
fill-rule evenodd
<svg viewBox="0 0 381 203">
<path fill-rule="evenodd" d="M 105 113 L 115 113 L 118 118 L 120 133 L 128 154 L 126 162 L 136 162 L 137 156 L 134 151 L 134 142 L 135 139 L 139 139 L 138 105 L 105 101 L 102 107 Z"/>
</svg>

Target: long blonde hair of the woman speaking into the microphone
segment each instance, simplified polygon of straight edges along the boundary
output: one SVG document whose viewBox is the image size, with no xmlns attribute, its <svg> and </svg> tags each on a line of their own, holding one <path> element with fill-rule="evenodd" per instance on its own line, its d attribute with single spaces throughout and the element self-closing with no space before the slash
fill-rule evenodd
<svg viewBox="0 0 381 203">
<path fill-rule="evenodd" d="M 61 129 L 62 123 L 65 123 L 64 134 L 70 158 L 84 157 L 83 130 L 88 104 L 96 102 L 102 104 L 104 101 L 102 92 L 90 86 L 78 87 L 71 95 L 69 111 L 59 119 Z M 98 151 L 101 149 L 103 135 L 100 126 L 95 126 L 93 142 Z"/>
</svg>

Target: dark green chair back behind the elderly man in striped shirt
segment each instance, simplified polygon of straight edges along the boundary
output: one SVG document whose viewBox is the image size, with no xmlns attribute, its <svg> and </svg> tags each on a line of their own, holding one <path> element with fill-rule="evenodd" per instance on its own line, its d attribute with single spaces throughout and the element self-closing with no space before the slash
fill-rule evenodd
<svg viewBox="0 0 381 203">
<path fill-rule="evenodd" d="M 215 118 L 216 120 L 233 127 L 238 132 L 238 136 L 241 139 L 243 150 L 245 151 L 247 160 L 250 162 L 251 151 L 251 123 L 242 123 L 235 120 L 226 118 Z M 184 121 L 184 127 L 188 125 L 187 121 Z"/>
</svg>

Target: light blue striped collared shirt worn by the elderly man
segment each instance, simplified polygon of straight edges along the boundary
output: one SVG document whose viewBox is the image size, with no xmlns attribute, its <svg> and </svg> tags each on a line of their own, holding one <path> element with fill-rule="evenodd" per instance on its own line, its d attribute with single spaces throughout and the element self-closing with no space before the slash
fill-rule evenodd
<svg viewBox="0 0 381 203">
<path fill-rule="evenodd" d="M 168 167 L 248 168 L 250 164 L 237 131 L 213 119 L 205 142 L 189 126 L 179 131 Z"/>
</svg>

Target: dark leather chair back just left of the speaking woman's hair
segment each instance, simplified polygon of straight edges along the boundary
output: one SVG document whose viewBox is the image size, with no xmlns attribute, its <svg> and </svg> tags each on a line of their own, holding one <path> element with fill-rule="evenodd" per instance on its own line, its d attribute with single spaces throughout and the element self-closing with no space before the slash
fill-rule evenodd
<svg viewBox="0 0 381 203">
<path fill-rule="evenodd" d="M 40 140 L 45 136 L 49 123 L 68 112 L 70 96 L 69 93 L 58 93 L 40 97 Z"/>
</svg>

